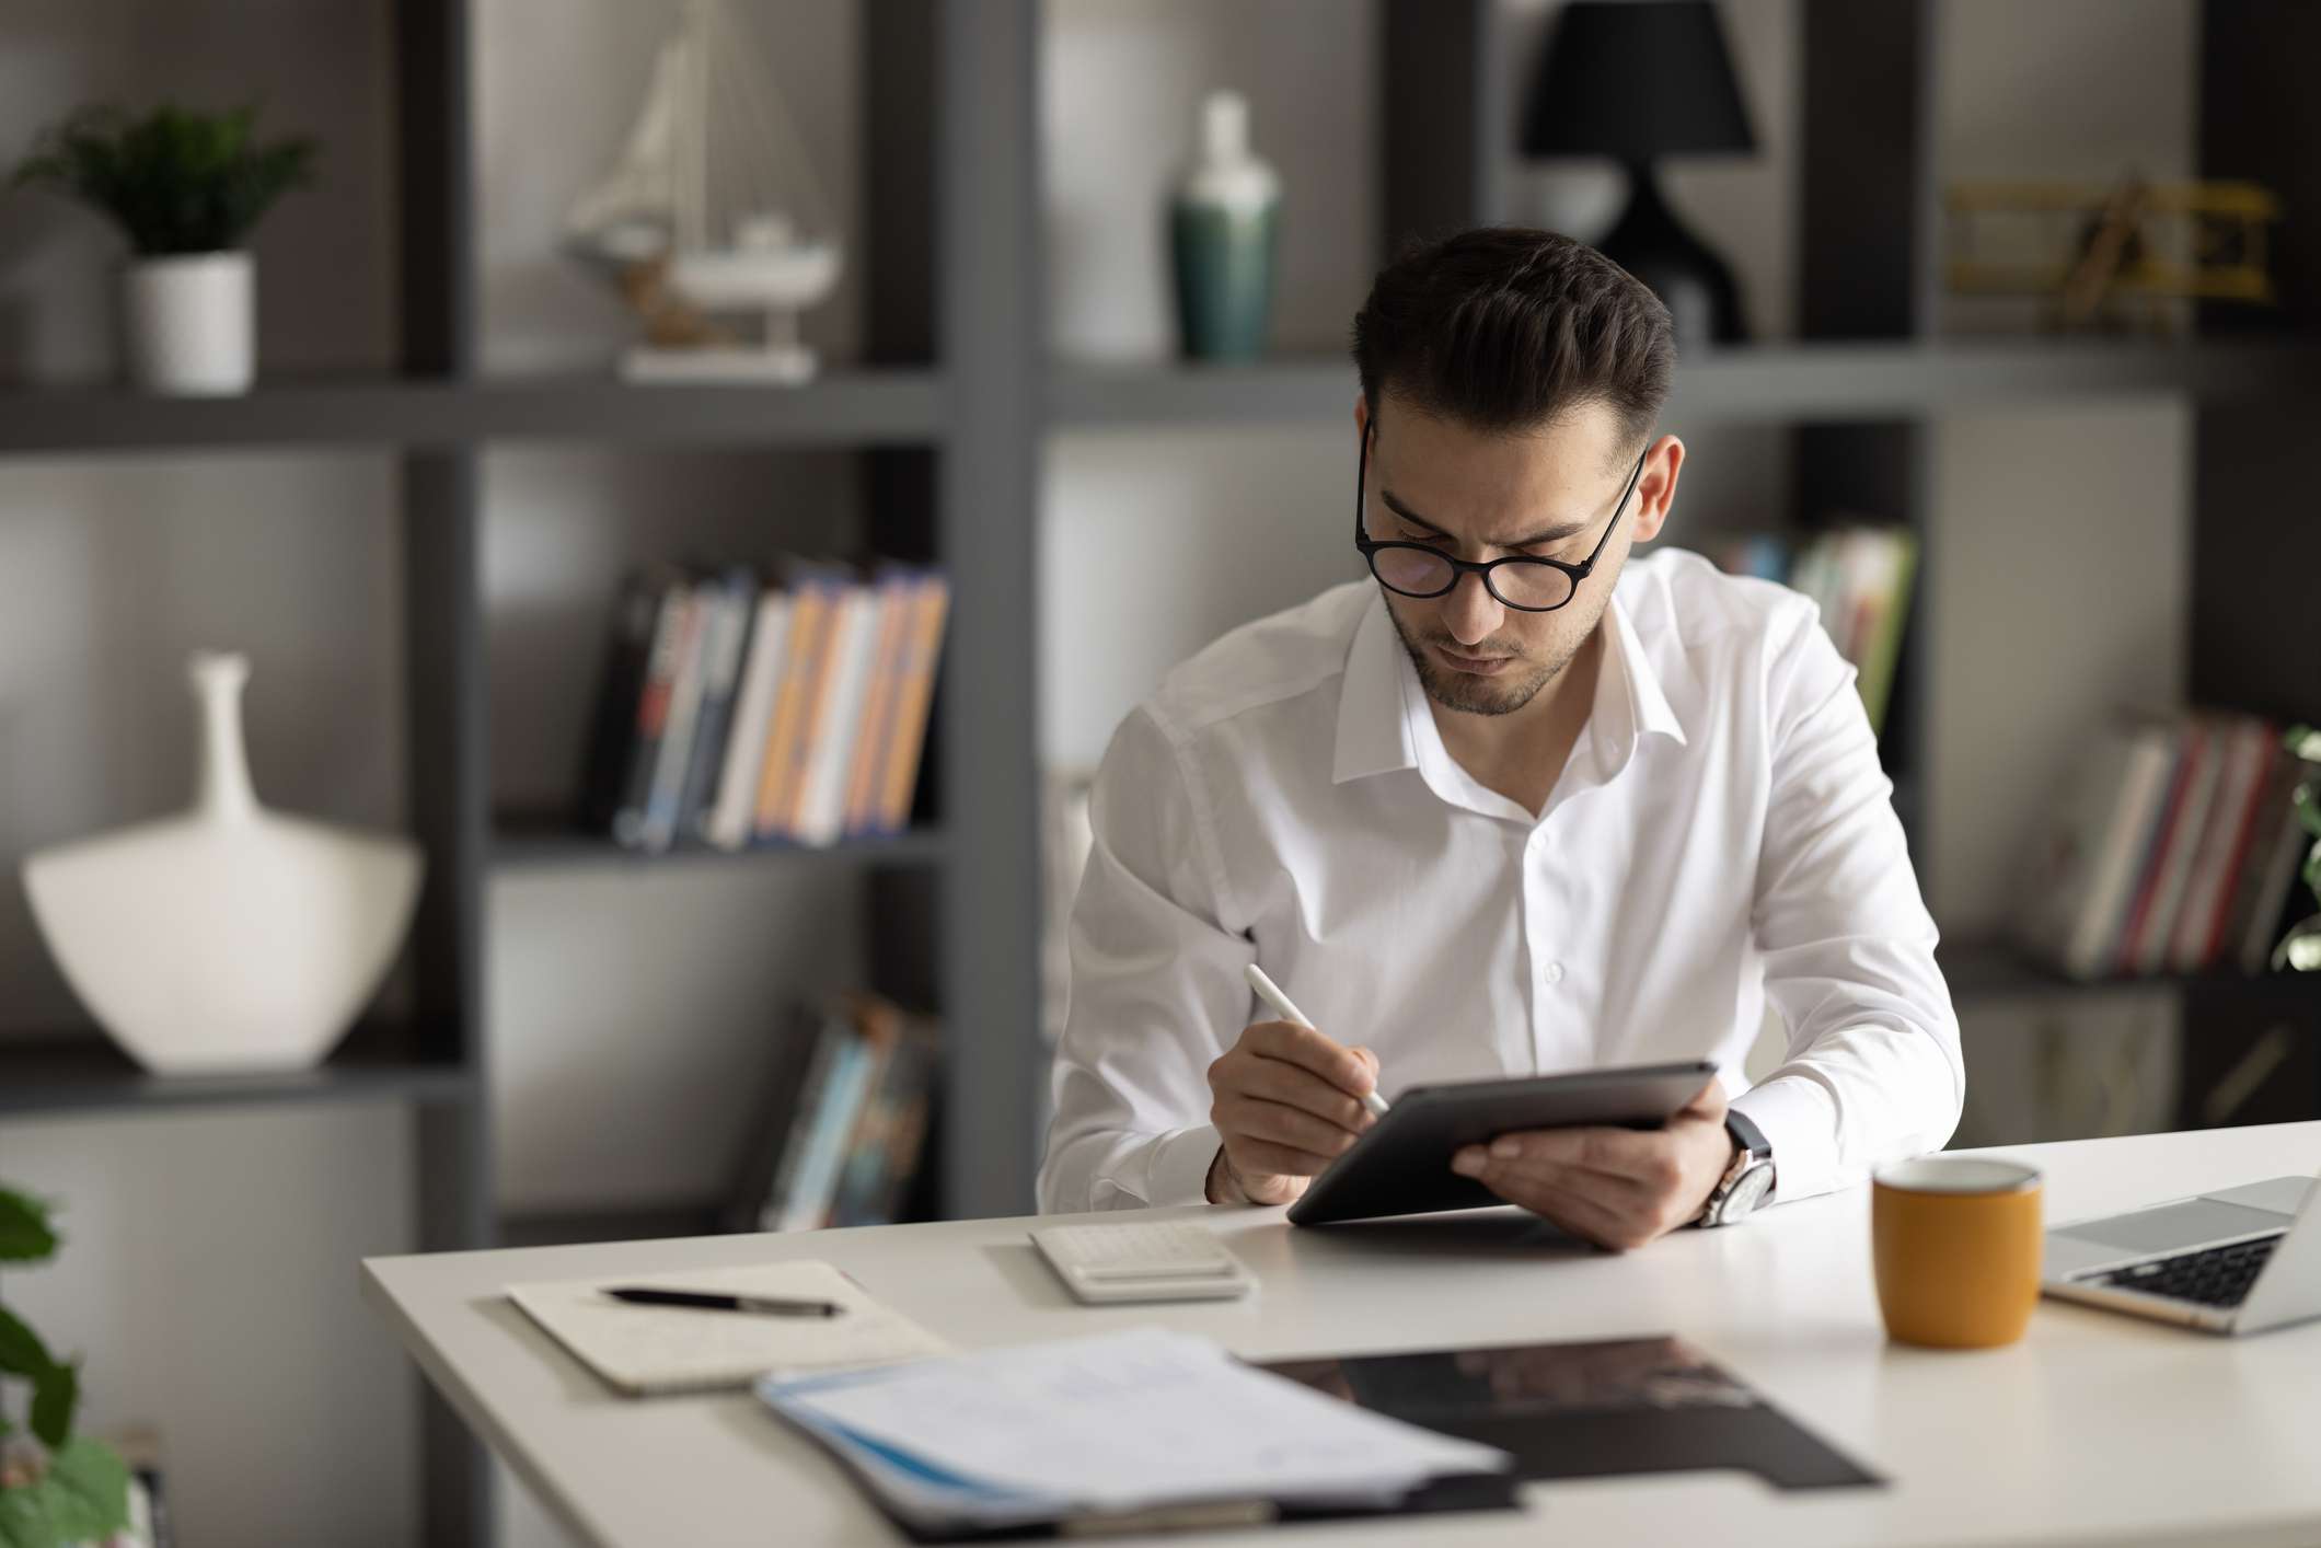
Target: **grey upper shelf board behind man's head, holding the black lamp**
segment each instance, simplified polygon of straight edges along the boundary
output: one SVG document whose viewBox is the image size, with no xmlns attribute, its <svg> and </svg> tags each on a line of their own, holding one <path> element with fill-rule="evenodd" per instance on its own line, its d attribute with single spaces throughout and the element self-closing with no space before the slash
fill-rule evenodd
<svg viewBox="0 0 2321 1548">
<path fill-rule="evenodd" d="M 1068 429 L 1351 425 L 1358 390 L 1353 364 L 1337 357 L 1246 367 L 1058 364 L 1049 371 L 1047 411 Z M 1991 404 L 2161 395 L 2200 402 L 2321 397 L 2321 339 L 1741 346 L 1680 364 L 1666 420 L 1892 420 Z"/>
</svg>

